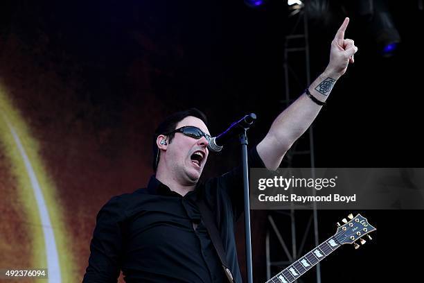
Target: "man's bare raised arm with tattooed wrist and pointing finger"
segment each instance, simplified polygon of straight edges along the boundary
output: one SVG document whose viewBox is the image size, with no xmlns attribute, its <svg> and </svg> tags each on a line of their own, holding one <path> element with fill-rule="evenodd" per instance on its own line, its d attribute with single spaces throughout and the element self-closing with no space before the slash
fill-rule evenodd
<svg viewBox="0 0 424 283">
<path fill-rule="evenodd" d="M 353 40 L 344 39 L 349 19 L 344 19 L 331 42 L 330 61 L 325 71 L 308 87 L 310 96 L 303 93 L 272 123 L 270 131 L 260 141 L 257 151 L 267 169 L 275 170 L 294 141 L 305 132 L 321 110 L 335 82 L 346 72 L 357 51 Z"/>
</svg>

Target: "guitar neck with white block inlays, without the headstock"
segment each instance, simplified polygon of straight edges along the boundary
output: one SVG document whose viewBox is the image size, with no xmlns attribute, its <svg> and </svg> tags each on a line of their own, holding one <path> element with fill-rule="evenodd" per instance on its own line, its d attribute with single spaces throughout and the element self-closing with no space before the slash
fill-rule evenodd
<svg viewBox="0 0 424 283">
<path fill-rule="evenodd" d="M 296 281 L 301 275 L 310 270 L 319 261 L 330 255 L 331 252 L 339 248 L 340 243 L 335 237 L 330 237 L 319 246 L 308 252 L 303 257 L 294 261 L 290 266 L 272 277 L 267 283 L 291 283 Z"/>
</svg>

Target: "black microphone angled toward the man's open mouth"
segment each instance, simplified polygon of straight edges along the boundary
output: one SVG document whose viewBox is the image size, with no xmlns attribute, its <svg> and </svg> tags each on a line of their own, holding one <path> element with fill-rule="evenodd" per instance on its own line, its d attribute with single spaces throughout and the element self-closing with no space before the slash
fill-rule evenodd
<svg viewBox="0 0 424 283">
<path fill-rule="evenodd" d="M 212 137 L 209 141 L 208 148 L 210 151 L 221 151 L 224 144 L 232 139 L 233 137 L 240 135 L 242 132 L 250 128 L 250 126 L 256 121 L 256 114 L 250 113 L 242 119 L 231 123 L 231 126 L 224 132 L 220 133 L 217 137 Z"/>
</svg>

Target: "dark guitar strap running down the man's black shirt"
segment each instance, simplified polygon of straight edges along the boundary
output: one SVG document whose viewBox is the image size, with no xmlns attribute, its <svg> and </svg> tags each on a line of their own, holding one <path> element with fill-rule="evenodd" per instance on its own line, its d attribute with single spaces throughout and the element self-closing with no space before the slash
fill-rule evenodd
<svg viewBox="0 0 424 283">
<path fill-rule="evenodd" d="M 202 219 L 206 229 L 209 232 L 209 236 L 211 237 L 213 246 L 215 247 L 216 252 L 218 253 L 218 257 L 220 257 L 220 261 L 222 264 L 222 268 L 224 269 L 225 275 L 227 275 L 227 279 L 230 283 L 235 283 L 233 279 L 233 275 L 229 270 L 229 265 L 227 264 L 227 259 L 225 257 L 224 246 L 222 246 L 222 239 L 218 232 L 218 228 L 216 228 L 215 221 L 213 220 L 213 214 L 211 209 L 206 205 L 204 201 L 204 196 L 197 195 L 197 206 L 200 209 L 200 214 L 202 215 Z"/>
</svg>

